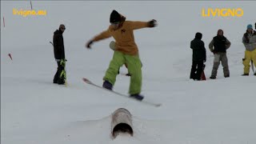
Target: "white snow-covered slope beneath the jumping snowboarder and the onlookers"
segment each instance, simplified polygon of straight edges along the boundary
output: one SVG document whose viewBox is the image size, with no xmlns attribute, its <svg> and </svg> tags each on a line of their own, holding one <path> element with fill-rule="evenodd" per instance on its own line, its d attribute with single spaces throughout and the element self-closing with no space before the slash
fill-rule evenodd
<svg viewBox="0 0 256 144">
<path fill-rule="evenodd" d="M 30 10 L 30 2 L 1 1 L 1 143 L 175 143 L 254 144 L 256 78 L 241 77 L 242 34 L 254 23 L 256 2 L 61 2 L 33 1 L 46 16 L 13 15 Z M 242 18 L 202 18 L 205 7 L 241 7 Z M 134 32 L 143 67 L 142 94 L 162 106 L 143 105 L 88 86 L 82 77 L 102 85 L 112 58 L 113 38 L 84 45 L 109 25 L 112 10 L 128 20 L 158 20 L 158 27 Z M 2 25 L 5 18 L 6 26 Z M 50 45 L 54 30 L 63 34 L 69 86 L 52 83 L 56 70 Z M 189 80 L 190 41 L 198 31 L 206 43 L 206 78 L 213 54 L 207 46 L 218 29 L 230 40 L 230 78 L 222 66 L 218 79 Z M 8 54 L 11 54 L 13 61 Z M 126 68 L 121 71 L 126 73 Z M 114 90 L 126 94 L 130 79 L 118 75 Z M 110 138 L 110 115 L 123 107 L 133 114 L 134 137 Z"/>
</svg>

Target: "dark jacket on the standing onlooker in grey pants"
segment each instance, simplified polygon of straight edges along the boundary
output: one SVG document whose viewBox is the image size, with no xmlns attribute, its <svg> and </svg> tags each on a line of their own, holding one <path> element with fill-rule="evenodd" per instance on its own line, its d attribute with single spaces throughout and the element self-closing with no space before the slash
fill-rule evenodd
<svg viewBox="0 0 256 144">
<path fill-rule="evenodd" d="M 231 43 L 226 37 L 217 35 L 210 42 L 209 49 L 213 53 L 226 53 L 230 45 Z"/>
</svg>

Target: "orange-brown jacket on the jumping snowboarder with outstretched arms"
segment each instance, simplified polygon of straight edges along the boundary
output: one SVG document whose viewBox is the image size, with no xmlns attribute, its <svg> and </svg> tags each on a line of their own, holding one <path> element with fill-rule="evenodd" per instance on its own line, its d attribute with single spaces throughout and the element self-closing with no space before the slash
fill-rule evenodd
<svg viewBox="0 0 256 144">
<path fill-rule="evenodd" d="M 138 46 L 134 42 L 134 30 L 148 27 L 148 22 L 126 21 L 125 17 L 122 19 L 123 22 L 120 23 L 117 30 L 114 30 L 114 27 L 110 25 L 107 30 L 94 37 L 93 41 L 96 42 L 112 36 L 116 42 L 115 50 L 124 54 L 136 55 L 138 54 Z"/>
</svg>

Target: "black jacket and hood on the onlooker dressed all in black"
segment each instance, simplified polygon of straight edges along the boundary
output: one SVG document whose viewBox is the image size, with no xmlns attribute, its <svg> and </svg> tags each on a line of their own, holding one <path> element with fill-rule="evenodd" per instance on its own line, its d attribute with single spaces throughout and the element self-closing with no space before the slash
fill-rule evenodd
<svg viewBox="0 0 256 144">
<path fill-rule="evenodd" d="M 190 48 L 193 50 L 193 61 L 206 61 L 205 43 L 202 42 L 201 38 L 196 35 L 194 40 L 190 42 Z"/>
</svg>

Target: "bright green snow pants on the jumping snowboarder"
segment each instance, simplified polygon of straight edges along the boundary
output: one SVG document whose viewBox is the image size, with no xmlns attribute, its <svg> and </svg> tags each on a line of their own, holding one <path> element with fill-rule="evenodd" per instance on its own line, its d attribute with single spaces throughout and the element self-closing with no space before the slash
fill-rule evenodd
<svg viewBox="0 0 256 144">
<path fill-rule="evenodd" d="M 120 51 L 114 51 L 114 56 L 103 80 L 110 82 L 114 86 L 118 70 L 124 63 L 127 64 L 130 74 L 129 94 L 140 94 L 142 90 L 142 62 L 138 54 L 128 55 Z"/>
</svg>

